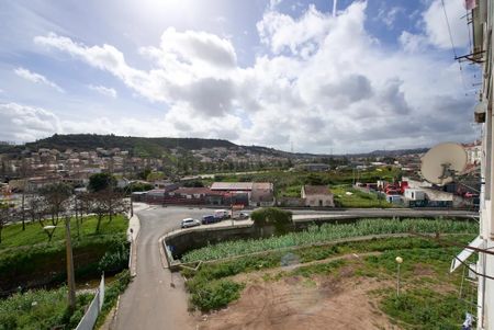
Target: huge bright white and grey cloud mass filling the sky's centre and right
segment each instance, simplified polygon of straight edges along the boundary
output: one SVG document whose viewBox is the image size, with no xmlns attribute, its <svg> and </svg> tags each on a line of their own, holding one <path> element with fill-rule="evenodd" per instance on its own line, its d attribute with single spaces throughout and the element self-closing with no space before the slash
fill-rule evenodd
<svg viewBox="0 0 494 330">
<path fill-rule="evenodd" d="M 336 18 L 313 5 L 299 19 L 268 9 L 257 24 L 266 54 L 246 68 L 228 39 L 205 32 L 166 30 L 158 46 L 139 49 L 147 71 L 111 45 L 55 34 L 35 42 L 112 73 L 168 109 L 154 121 L 94 120 L 88 132 L 229 138 L 284 149 L 292 140 L 299 150 L 318 152 L 473 138 L 463 123 L 474 100 L 463 96 L 454 62 L 417 52 L 431 34 L 406 32 L 401 49 L 384 49 L 366 31 L 366 11 L 360 1 Z"/>
</svg>

